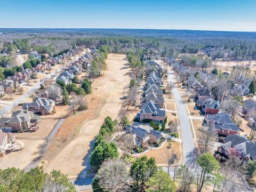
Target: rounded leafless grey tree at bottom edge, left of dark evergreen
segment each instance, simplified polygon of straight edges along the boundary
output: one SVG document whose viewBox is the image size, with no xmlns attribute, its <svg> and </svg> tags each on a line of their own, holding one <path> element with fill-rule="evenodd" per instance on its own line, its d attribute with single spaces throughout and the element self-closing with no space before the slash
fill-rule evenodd
<svg viewBox="0 0 256 192">
<path fill-rule="evenodd" d="M 98 185 L 104 191 L 128 191 L 129 173 L 126 165 L 120 159 L 109 159 L 103 162 L 98 173 L 95 175 Z M 94 190 L 94 188 L 93 188 Z"/>
</svg>

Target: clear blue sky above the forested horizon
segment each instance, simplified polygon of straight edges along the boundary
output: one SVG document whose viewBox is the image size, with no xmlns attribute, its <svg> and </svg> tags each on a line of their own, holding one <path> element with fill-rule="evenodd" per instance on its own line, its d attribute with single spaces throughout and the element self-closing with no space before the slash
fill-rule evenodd
<svg viewBox="0 0 256 192">
<path fill-rule="evenodd" d="M 256 0 L 0 0 L 0 28 L 256 31 Z"/>
</svg>

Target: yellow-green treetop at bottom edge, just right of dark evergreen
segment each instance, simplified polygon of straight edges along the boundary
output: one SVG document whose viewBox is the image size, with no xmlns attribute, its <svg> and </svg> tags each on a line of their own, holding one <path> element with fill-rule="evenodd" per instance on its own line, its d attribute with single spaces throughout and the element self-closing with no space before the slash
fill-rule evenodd
<svg viewBox="0 0 256 192">
<path fill-rule="evenodd" d="M 147 192 L 174 192 L 176 191 L 175 183 L 170 178 L 170 175 L 159 169 L 153 177 L 147 182 Z"/>
</svg>

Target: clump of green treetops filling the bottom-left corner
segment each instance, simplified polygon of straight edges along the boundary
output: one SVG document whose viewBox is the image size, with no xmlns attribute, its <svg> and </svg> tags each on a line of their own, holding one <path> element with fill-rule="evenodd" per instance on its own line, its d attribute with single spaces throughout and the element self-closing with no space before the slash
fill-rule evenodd
<svg viewBox="0 0 256 192">
<path fill-rule="evenodd" d="M 42 167 L 36 167 L 29 172 L 14 167 L 0 170 L 0 190 L 75 192 L 67 175 L 55 170 L 48 174 Z"/>
</svg>

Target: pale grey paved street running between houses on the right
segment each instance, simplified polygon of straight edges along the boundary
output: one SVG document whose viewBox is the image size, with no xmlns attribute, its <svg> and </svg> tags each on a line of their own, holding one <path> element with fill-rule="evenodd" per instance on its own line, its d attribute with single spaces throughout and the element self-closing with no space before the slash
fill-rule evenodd
<svg viewBox="0 0 256 192">
<path fill-rule="evenodd" d="M 174 82 L 174 76 L 171 71 L 168 71 L 168 78 L 169 82 Z M 183 141 L 183 153 L 185 156 L 185 162 L 186 162 L 186 156 L 187 154 L 194 149 L 194 138 L 191 131 L 189 119 L 188 119 L 188 113 L 186 109 L 186 105 L 183 103 L 183 100 L 180 96 L 180 93 L 178 91 L 177 87 L 174 87 L 172 89 L 172 93 L 177 105 L 178 115 L 180 118 L 180 128 L 181 128 L 181 138 Z"/>
</svg>

